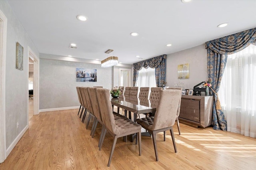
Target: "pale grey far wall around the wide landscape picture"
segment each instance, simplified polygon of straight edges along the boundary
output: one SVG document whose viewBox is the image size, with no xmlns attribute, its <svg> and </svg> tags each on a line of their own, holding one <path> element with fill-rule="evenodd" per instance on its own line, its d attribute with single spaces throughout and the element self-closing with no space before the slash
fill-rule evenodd
<svg viewBox="0 0 256 170">
<path fill-rule="evenodd" d="M 100 64 L 46 59 L 47 56 L 61 59 L 61 56 L 40 53 L 39 108 L 41 111 L 80 106 L 77 86 L 103 86 L 106 89 L 113 87 L 113 67 L 102 68 Z M 97 82 L 76 82 L 76 68 L 97 69 Z"/>
</svg>

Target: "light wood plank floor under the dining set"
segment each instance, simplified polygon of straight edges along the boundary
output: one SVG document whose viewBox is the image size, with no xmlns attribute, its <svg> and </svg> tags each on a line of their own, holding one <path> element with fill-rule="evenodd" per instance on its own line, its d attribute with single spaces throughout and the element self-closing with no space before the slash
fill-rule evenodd
<svg viewBox="0 0 256 170">
<path fill-rule="evenodd" d="M 119 138 L 110 167 L 107 167 L 112 136 L 106 135 L 98 150 L 101 127 L 94 138 L 81 122 L 78 109 L 43 112 L 29 121 L 29 129 L 14 147 L 1 170 L 27 169 L 200 169 L 255 170 L 256 139 L 180 123 L 181 135 L 174 125 L 178 152 L 174 152 L 170 132 L 166 142 L 157 135 L 159 161 L 155 160 L 152 138 L 142 136 L 142 155 L 135 142 Z M 88 116 L 86 116 L 88 117 Z M 87 119 L 86 119 L 87 121 Z M 86 122 L 85 121 L 85 122 Z"/>
</svg>

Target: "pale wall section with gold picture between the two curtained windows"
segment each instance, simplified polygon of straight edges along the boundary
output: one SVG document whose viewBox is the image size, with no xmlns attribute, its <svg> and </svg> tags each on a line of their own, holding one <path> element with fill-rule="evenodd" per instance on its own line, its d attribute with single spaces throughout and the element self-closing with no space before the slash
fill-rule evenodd
<svg viewBox="0 0 256 170">
<path fill-rule="evenodd" d="M 189 79 L 180 79 L 185 89 L 193 89 L 207 79 L 207 51 L 203 44 L 167 55 L 166 86 L 174 87 L 174 83 L 178 82 L 178 65 L 186 63 L 189 63 Z"/>
</svg>

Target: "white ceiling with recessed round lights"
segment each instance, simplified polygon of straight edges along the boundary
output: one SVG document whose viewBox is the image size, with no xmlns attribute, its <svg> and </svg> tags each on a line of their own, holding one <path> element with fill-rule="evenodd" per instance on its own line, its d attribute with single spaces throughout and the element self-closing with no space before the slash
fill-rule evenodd
<svg viewBox="0 0 256 170">
<path fill-rule="evenodd" d="M 256 27 L 256 0 L 8 0 L 40 53 L 132 64 Z M 86 22 L 77 15 L 88 18 Z M 217 28 L 228 22 L 227 27 Z M 138 37 L 130 36 L 138 32 Z M 69 44 L 76 43 L 77 49 Z M 167 47 L 166 44 L 172 46 Z"/>
</svg>

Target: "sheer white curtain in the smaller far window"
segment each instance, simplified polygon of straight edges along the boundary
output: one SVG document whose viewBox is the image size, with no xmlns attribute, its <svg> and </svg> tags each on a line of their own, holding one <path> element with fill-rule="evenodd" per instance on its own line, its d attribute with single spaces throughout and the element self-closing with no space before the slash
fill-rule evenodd
<svg viewBox="0 0 256 170">
<path fill-rule="evenodd" d="M 155 69 L 148 67 L 139 71 L 137 86 L 139 87 L 156 87 Z"/>
</svg>

